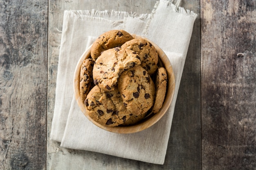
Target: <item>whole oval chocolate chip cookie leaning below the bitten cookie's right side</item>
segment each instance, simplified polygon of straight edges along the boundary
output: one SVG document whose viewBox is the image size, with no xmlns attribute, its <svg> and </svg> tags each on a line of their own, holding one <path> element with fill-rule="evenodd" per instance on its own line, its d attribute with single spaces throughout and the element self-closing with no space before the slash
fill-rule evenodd
<svg viewBox="0 0 256 170">
<path fill-rule="evenodd" d="M 140 115 L 153 106 L 155 85 L 147 71 L 141 66 L 135 66 L 124 71 L 118 79 L 118 90 L 127 110 Z"/>
</svg>

